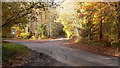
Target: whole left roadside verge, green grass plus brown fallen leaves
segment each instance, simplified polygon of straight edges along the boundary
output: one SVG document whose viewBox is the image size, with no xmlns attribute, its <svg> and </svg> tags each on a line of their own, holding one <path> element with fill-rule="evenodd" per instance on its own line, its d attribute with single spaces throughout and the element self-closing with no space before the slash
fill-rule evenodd
<svg viewBox="0 0 120 68">
<path fill-rule="evenodd" d="M 3 42 L 2 67 L 21 66 L 31 58 L 31 50 L 17 43 Z"/>
</svg>

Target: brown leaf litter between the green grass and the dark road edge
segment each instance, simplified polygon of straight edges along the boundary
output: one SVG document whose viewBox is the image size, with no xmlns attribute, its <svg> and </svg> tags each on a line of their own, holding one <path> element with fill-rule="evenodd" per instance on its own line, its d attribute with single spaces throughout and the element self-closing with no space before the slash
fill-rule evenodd
<svg viewBox="0 0 120 68">
<path fill-rule="evenodd" d="M 18 54 L 17 56 L 11 58 L 8 62 L 3 62 L 3 67 L 15 67 L 15 66 L 21 66 L 25 63 L 28 63 L 31 61 L 31 58 L 33 57 L 33 51 L 26 50 L 24 52 L 21 52 L 21 54 Z"/>
</svg>

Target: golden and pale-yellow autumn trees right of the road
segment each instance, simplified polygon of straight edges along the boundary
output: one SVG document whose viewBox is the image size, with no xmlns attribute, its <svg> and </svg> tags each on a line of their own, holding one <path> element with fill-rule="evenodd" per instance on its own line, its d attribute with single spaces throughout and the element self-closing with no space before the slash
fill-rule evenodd
<svg viewBox="0 0 120 68">
<path fill-rule="evenodd" d="M 119 2 L 79 2 L 79 0 L 71 0 L 62 3 L 62 8 L 58 9 L 58 14 L 68 37 L 70 35 L 77 36 L 77 34 L 74 34 L 76 32 L 78 36 L 81 36 L 81 39 L 84 38 L 88 42 L 100 41 L 112 44 L 118 43 L 120 35 L 118 6 Z M 72 27 L 74 24 L 77 25 Z M 75 31 L 76 29 L 78 32 Z"/>
</svg>

